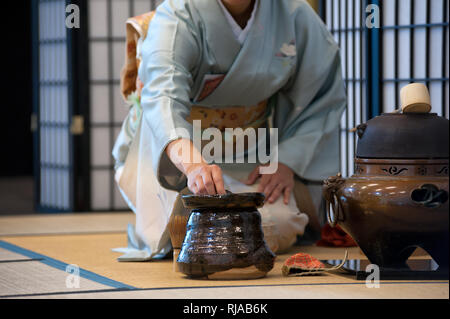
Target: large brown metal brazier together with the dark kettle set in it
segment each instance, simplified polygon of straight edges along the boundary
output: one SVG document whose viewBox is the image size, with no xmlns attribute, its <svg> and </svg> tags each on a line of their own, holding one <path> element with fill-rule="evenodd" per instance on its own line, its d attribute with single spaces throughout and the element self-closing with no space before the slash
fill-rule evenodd
<svg viewBox="0 0 450 319">
<path fill-rule="evenodd" d="M 448 269 L 448 133 L 436 114 L 383 114 L 357 128 L 355 174 L 325 181 L 330 225 L 372 263 L 401 269 L 422 247 Z"/>
</svg>

